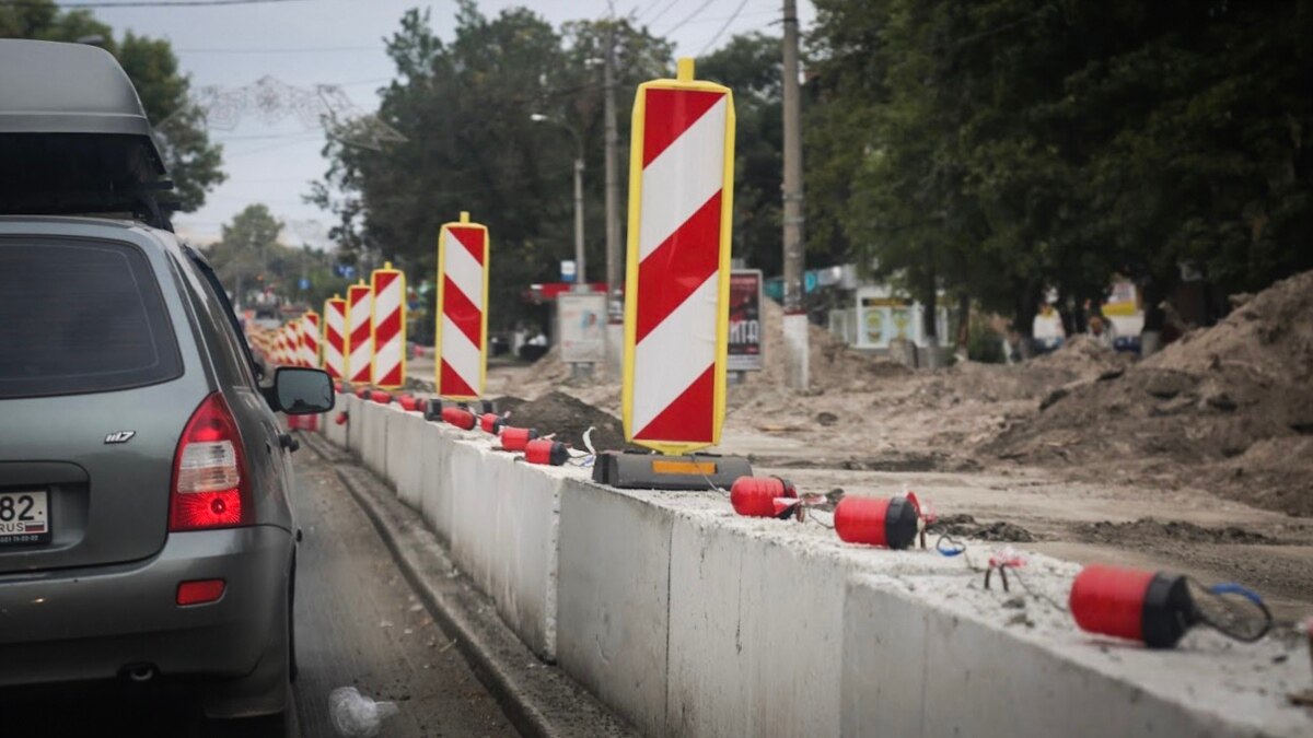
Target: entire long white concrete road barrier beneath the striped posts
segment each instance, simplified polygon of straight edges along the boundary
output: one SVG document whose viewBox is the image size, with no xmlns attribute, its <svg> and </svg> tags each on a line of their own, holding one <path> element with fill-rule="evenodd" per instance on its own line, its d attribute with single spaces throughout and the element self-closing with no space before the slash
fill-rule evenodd
<svg viewBox="0 0 1313 738">
<path fill-rule="evenodd" d="M 1025 590 L 986 591 L 968 563 L 990 544 L 960 558 L 848 545 L 738 517 L 714 492 L 601 487 L 479 432 L 341 402 L 351 428 L 326 436 L 395 486 L 536 654 L 646 734 L 1313 730 L 1285 703 L 1310 682 L 1304 646 L 1098 641 L 1060 609 L 1071 563 L 1032 555 Z"/>
</svg>

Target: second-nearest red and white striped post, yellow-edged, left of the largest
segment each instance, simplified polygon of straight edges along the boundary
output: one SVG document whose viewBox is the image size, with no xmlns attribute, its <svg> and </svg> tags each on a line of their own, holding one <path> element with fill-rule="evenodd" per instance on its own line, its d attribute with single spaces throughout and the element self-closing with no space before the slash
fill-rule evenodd
<svg viewBox="0 0 1313 738">
<path fill-rule="evenodd" d="M 461 213 L 437 235 L 437 394 L 477 399 L 487 373 L 488 230 Z"/>
</svg>

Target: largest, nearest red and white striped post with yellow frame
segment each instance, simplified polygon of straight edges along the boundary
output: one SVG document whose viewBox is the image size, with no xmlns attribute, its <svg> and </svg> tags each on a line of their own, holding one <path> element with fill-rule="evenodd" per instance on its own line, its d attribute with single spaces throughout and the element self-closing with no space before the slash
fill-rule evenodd
<svg viewBox="0 0 1313 738">
<path fill-rule="evenodd" d="M 662 453 L 720 441 L 729 341 L 734 98 L 643 83 L 634 98 L 625 281 L 625 436 Z"/>
</svg>

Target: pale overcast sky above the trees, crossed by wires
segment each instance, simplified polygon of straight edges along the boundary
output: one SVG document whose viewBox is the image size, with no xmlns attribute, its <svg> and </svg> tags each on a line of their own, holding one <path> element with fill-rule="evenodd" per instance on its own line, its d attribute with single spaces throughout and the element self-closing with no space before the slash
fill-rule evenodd
<svg viewBox="0 0 1313 738">
<path fill-rule="evenodd" d="M 479 0 L 487 16 L 515 5 L 532 8 L 558 28 L 569 20 L 607 13 L 605 0 Z M 810 0 L 798 5 L 805 32 L 814 11 Z M 243 87 L 272 75 L 295 87 L 341 85 L 356 105 L 373 110 L 378 105 L 376 91 L 393 75 L 382 39 L 414 7 L 431 8 L 437 33 L 452 37 L 456 3 L 450 0 L 290 0 L 209 8 L 97 8 L 96 14 L 116 34 L 131 29 L 171 39 L 193 89 Z M 714 49 L 737 33 L 779 33 L 781 7 L 780 0 L 616 0 L 617 13 L 633 11 L 639 24 L 675 41 L 680 55 Z M 332 217 L 301 202 L 301 196 L 309 190 L 307 183 L 324 172 L 322 133 L 307 133 L 290 117 L 270 123 L 246 116 L 232 130 L 215 130 L 211 137 L 223 143 L 228 180 L 209 194 L 205 207 L 175 219 L 180 232 L 210 240 L 235 213 L 264 202 L 297 226 L 285 234 L 288 240 L 318 240 L 314 234 Z"/>
</svg>

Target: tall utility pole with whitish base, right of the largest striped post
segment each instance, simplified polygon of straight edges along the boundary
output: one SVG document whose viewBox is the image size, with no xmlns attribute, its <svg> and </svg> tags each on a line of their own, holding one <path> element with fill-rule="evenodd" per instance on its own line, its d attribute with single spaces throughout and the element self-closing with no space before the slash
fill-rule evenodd
<svg viewBox="0 0 1313 738">
<path fill-rule="evenodd" d="M 784 381 L 805 390 L 807 314 L 802 306 L 802 108 L 798 101 L 798 5 L 784 0 Z"/>
</svg>

